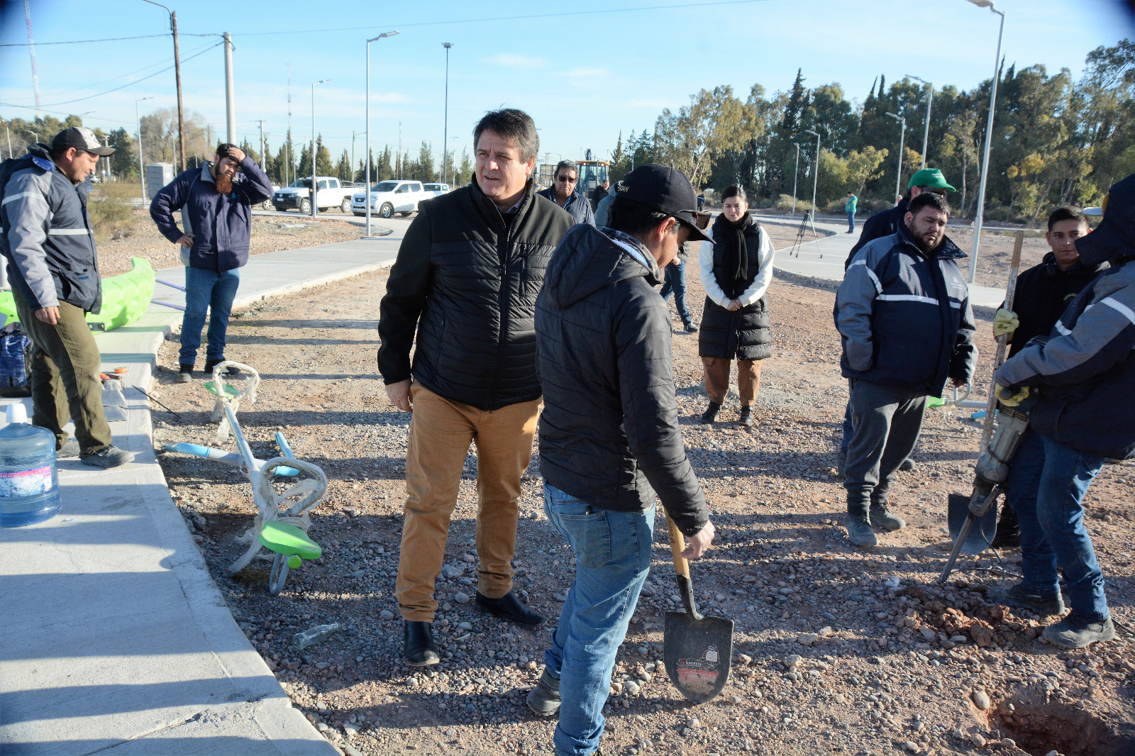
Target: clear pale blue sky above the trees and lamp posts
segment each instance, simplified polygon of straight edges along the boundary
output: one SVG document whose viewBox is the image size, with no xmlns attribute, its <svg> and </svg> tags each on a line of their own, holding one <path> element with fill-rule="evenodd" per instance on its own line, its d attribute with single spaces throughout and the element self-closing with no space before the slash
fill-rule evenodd
<svg viewBox="0 0 1135 756">
<path fill-rule="evenodd" d="M 27 41 L 22 0 L 0 0 L 0 43 Z M 269 143 L 287 128 L 287 65 L 292 65 L 295 138 L 316 128 L 334 154 L 363 153 L 364 40 L 380 31 L 398 36 L 371 44 L 372 146 L 417 152 L 422 140 L 435 154 L 443 141 L 445 50 L 449 67 L 449 135 L 457 153 L 485 110 L 523 108 L 540 128 L 541 152 L 579 158 L 614 146 L 622 131 L 650 129 L 662 108 L 676 109 L 700 87 L 730 84 L 768 93 L 792 84 L 831 82 L 863 100 L 873 79 L 903 74 L 935 85 L 970 89 L 993 69 L 998 17 L 965 0 L 932 3 L 884 0 L 757 0 L 690 3 L 674 0 L 563 2 L 217 2 L 165 0 L 177 11 L 187 111 L 201 112 L 215 134 L 225 125 L 222 49 L 235 47 L 237 136 Z M 669 7 L 659 7 L 669 6 Z M 1003 51 L 1009 62 L 1068 67 L 1078 77 L 1084 56 L 1129 36 L 1132 23 L 1115 0 L 1000 0 L 1006 11 Z M 588 12 L 587 15 L 552 14 Z M 502 17 L 528 16 L 503 20 Z M 544 16 L 544 17 L 538 17 Z M 489 19 L 489 20 L 485 20 Z M 87 98 L 171 64 L 168 37 L 92 44 L 47 42 L 161 34 L 168 16 L 142 0 L 32 0 L 41 102 L 51 115 L 83 114 L 106 129 L 134 128 L 135 98 L 143 114 L 175 107 L 173 70 L 93 99 Z M 322 31 L 338 30 L 338 31 Z M 196 56 L 196 57 L 194 57 Z M 26 47 L 0 48 L 0 117 L 28 117 L 34 103 Z M 66 104 L 56 104 L 66 103 Z M 149 107 L 149 108 L 148 108 Z M 471 149 L 470 149 L 471 151 Z M 541 154 L 543 159 L 543 154 Z"/>
</svg>

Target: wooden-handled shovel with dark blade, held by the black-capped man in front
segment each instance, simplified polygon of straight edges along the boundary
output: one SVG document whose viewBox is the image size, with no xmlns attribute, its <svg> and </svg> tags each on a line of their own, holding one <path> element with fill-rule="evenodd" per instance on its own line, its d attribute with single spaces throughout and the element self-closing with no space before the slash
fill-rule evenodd
<svg viewBox="0 0 1135 756">
<path fill-rule="evenodd" d="M 698 612 L 690 581 L 690 563 L 681 556 L 686 551 L 686 539 L 670 515 L 666 515 L 666 526 L 678 571 L 678 590 L 686 611 L 666 612 L 662 658 L 674 687 L 695 704 L 704 704 L 720 694 L 729 681 L 729 665 L 733 658 L 733 621 L 701 616 Z"/>
</svg>

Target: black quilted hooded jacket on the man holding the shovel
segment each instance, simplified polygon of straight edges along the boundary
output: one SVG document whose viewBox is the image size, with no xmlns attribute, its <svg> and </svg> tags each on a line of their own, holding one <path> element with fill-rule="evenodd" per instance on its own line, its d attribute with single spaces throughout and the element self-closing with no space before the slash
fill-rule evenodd
<svg viewBox="0 0 1135 756">
<path fill-rule="evenodd" d="M 597 510 L 641 511 L 657 494 L 692 536 L 709 513 L 678 427 L 661 274 L 645 247 L 646 262 L 611 241 L 617 234 L 574 226 L 536 301 L 540 472 Z"/>
</svg>

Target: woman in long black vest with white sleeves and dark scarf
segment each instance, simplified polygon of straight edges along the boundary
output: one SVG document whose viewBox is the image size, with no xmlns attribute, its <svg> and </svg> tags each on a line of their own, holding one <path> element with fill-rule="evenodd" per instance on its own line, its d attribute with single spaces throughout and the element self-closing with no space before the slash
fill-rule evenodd
<svg viewBox="0 0 1135 756">
<path fill-rule="evenodd" d="M 714 243 L 701 245 L 701 313 L 698 354 L 705 366 L 709 406 L 701 422 L 717 419 L 729 393 L 730 362 L 737 360 L 741 395 L 740 422 L 753 427 L 753 402 L 760 386 L 760 361 L 772 356 L 765 292 L 773 277 L 773 246 L 768 234 L 749 215 L 745 190 L 722 192 L 722 213 L 713 225 Z"/>
</svg>

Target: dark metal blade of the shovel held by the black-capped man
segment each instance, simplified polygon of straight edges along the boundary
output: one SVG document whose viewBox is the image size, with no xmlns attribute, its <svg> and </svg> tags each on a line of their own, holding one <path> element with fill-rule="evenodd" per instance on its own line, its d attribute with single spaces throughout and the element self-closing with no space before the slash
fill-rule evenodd
<svg viewBox="0 0 1135 756">
<path fill-rule="evenodd" d="M 670 681 L 683 696 L 695 704 L 711 700 L 729 682 L 733 621 L 666 612 L 662 658 Z"/>
</svg>

